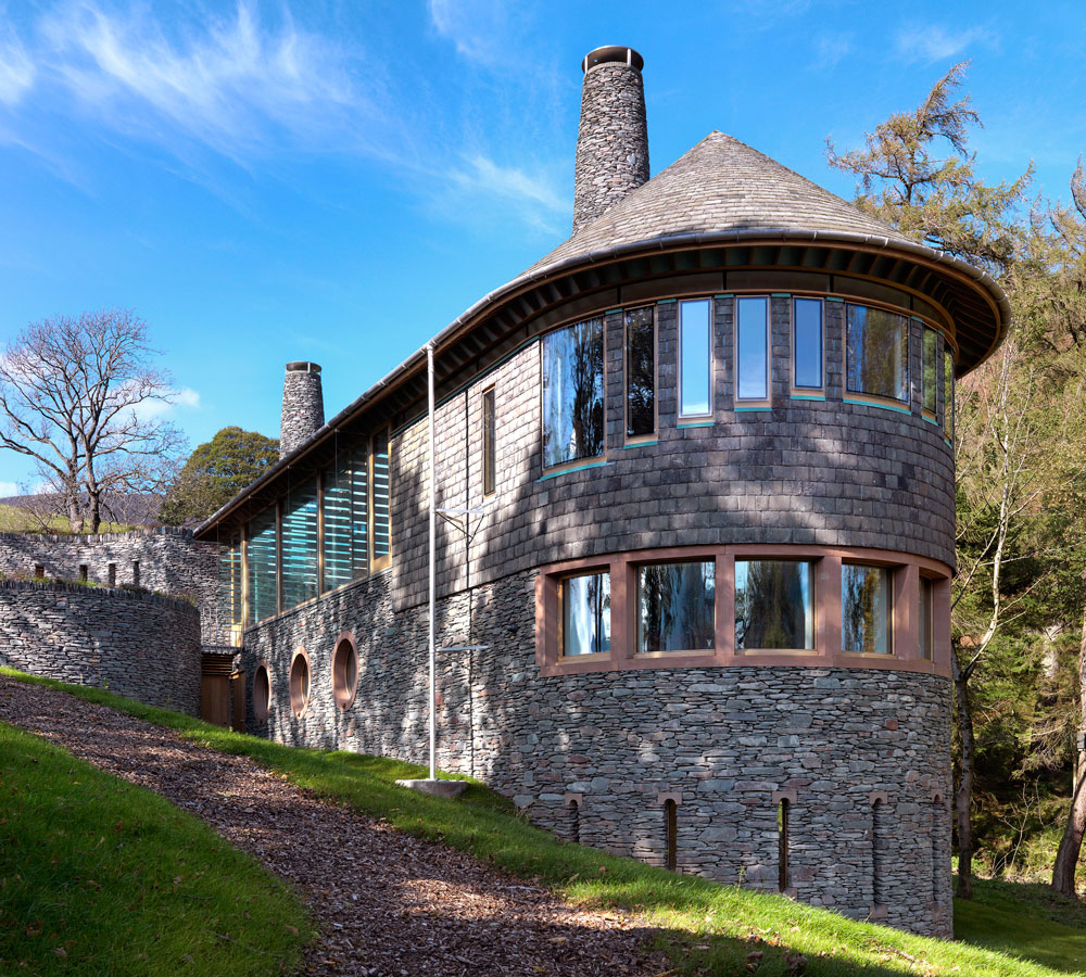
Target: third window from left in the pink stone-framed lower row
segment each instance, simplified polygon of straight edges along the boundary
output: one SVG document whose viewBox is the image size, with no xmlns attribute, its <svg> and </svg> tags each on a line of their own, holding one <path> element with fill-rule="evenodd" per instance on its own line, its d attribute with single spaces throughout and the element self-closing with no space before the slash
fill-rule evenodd
<svg viewBox="0 0 1086 977">
<path fill-rule="evenodd" d="M 811 564 L 798 560 L 736 560 L 736 650 L 813 647 Z"/>
</svg>

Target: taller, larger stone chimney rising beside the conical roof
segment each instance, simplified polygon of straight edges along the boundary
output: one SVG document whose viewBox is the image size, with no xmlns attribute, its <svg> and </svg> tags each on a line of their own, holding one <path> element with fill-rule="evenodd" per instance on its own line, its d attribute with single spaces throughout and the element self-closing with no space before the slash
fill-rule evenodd
<svg viewBox="0 0 1086 977">
<path fill-rule="evenodd" d="M 581 125 L 573 173 L 573 233 L 648 179 L 648 125 L 633 48 L 596 48 L 581 62 Z"/>
</svg>

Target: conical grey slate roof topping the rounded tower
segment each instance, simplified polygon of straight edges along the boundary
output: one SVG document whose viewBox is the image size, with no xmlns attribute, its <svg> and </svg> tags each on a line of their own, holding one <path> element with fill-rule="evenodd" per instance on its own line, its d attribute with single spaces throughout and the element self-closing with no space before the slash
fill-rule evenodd
<svg viewBox="0 0 1086 977">
<path fill-rule="evenodd" d="M 633 241 L 759 228 L 845 231 L 908 241 L 745 142 L 714 131 L 532 265 L 528 274 Z"/>
</svg>

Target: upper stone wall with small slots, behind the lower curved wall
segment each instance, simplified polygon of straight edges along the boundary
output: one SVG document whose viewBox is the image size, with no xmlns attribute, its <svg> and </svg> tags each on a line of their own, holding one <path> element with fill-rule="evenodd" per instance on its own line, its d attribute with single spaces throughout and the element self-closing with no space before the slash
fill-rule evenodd
<svg viewBox="0 0 1086 977">
<path fill-rule="evenodd" d="M 0 574 L 33 576 L 40 566 L 46 576 L 78 580 L 80 566 L 87 576 L 110 584 L 131 584 L 139 564 L 140 586 L 175 596 L 191 596 L 200 609 L 204 644 L 226 645 L 229 632 L 218 624 L 218 555 L 214 543 L 197 543 L 188 530 L 163 526 L 130 533 L 93 536 L 42 536 L 0 533 Z"/>
</svg>

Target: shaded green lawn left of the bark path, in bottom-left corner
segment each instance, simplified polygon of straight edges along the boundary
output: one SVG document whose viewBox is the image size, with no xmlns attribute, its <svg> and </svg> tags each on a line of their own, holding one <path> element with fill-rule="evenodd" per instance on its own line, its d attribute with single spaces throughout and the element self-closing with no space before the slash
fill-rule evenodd
<svg viewBox="0 0 1086 977">
<path fill-rule="evenodd" d="M 310 934 L 201 821 L 0 723 L 0 974 L 291 973 Z"/>
</svg>

